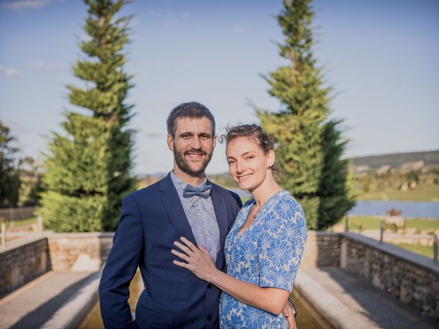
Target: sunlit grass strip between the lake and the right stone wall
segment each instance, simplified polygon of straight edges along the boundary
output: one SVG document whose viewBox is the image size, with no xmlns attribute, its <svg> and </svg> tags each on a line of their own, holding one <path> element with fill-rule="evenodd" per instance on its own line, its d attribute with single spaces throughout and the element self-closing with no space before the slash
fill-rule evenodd
<svg viewBox="0 0 439 329">
<path fill-rule="evenodd" d="M 379 222 L 384 217 L 372 216 L 349 216 L 349 230 L 379 230 Z M 344 226 L 343 218 L 337 224 Z M 405 228 L 416 228 L 418 230 L 439 230 L 438 219 L 405 219 Z"/>
</svg>

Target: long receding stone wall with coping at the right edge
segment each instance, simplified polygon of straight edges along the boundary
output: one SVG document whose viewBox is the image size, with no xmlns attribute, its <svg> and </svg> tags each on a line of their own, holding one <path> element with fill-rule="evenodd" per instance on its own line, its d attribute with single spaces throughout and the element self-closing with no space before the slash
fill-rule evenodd
<svg viewBox="0 0 439 329">
<path fill-rule="evenodd" d="M 340 267 L 439 319 L 439 266 L 430 258 L 355 233 L 341 236 Z"/>
</svg>

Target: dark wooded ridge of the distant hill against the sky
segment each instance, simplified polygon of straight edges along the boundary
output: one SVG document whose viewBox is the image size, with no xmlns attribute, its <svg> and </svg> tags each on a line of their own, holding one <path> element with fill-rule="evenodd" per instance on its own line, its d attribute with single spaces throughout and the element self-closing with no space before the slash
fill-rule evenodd
<svg viewBox="0 0 439 329">
<path fill-rule="evenodd" d="M 425 166 L 439 167 L 439 150 L 383 154 L 380 156 L 361 156 L 359 158 L 352 158 L 351 160 L 352 164 L 356 167 L 368 166 L 371 169 L 377 169 L 385 164 L 390 165 L 392 168 L 399 168 L 407 162 L 416 161 L 424 161 Z"/>
</svg>

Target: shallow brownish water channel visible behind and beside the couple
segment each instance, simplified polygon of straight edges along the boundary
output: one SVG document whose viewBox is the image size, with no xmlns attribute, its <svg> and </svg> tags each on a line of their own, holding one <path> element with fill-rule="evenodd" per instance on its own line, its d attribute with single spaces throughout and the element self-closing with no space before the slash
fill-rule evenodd
<svg viewBox="0 0 439 329">
<path fill-rule="evenodd" d="M 143 290 L 143 282 L 140 276 L 140 272 L 137 271 L 134 279 L 130 284 L 130 300 L 128 300 L 131 312 L 134 313 L 136 308 L 137 299 Z M 298 317 L 296 319 L 296 325 L 298 328 L 307 329 L 329 329 L 332 328 L 315 310 L 307 303 L 306 300 L 298 296 L 298 293 L 293 291 L 294 304 L 296 305 Z M 86 316 L 84 321 L 79 327 L 80 329 L 104 329 L 102 319 L 99 310 L 99 302 L 93 306 L 90 313 Z"/>
</svg>

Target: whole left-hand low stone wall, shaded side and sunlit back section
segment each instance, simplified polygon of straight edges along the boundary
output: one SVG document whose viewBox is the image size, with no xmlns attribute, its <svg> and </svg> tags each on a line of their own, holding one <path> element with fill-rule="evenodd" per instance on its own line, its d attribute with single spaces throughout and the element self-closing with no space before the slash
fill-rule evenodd
<svg viewBox="0 0 439 329">
<path fill-rule="evenodd" d="M 0 249 L 0 296 L 50 271 L 99 271 L 114 233 L 48 233 Z"/>
</svg>

